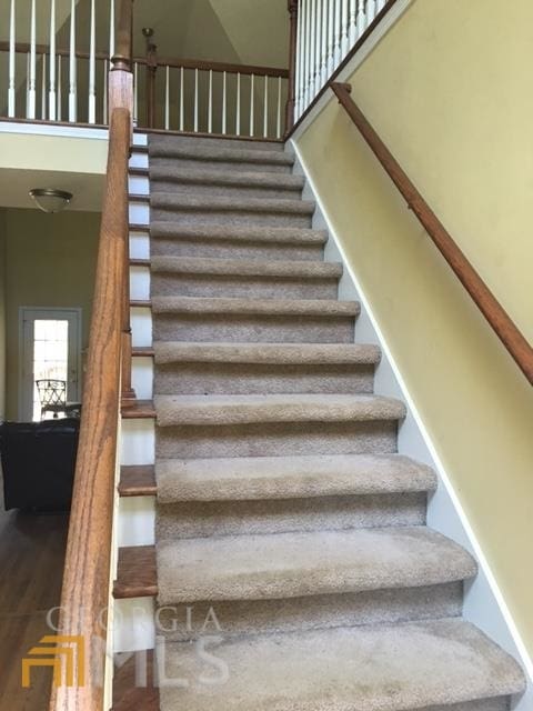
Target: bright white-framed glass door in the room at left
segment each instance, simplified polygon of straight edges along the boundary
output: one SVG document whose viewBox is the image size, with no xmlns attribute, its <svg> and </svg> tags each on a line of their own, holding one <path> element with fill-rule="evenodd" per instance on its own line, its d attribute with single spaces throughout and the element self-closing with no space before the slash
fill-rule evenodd
<svg viewBox="0 0 533 711">
<path fill-rule="evenodd" d="M 81 309 L 20 308 L 19 420 L 41 419 L 36 380 L 64 380 L 80 399 Z"/>
</svg>

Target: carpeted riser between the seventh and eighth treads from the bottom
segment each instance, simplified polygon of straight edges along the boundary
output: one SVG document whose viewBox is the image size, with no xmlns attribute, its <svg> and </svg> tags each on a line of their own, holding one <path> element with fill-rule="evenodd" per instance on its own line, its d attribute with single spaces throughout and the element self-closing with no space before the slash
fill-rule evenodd
<svg viewBox="0 0 533 711">
<path fill-rule="evenodd" d="M 280 261 L 321 261 L 323 244 L 286 244 L 279 242 L 243 242 L 229 240 L 152 238 L 152 254 L 165 257 L 211 257 L 217 259 L 258 259 Z"/>
</svg>

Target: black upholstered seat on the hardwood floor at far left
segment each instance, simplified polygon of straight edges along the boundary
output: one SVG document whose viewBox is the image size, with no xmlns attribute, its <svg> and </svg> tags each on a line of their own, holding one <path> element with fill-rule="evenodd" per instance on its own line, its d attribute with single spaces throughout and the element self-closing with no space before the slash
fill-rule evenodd
<svg viewBox="0 0 533 711">
<path fill-rule="evenodd" d="M 70 509 L 79 428 L 74 418 L 0 424 L 6 510 Z"/>
</svg>

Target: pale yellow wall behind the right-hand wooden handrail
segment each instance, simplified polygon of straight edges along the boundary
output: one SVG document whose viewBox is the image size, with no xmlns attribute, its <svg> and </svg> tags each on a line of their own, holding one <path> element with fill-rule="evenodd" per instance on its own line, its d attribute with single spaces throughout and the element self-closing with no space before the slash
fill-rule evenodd
<svg viewBox="0 0 533 711">
<path fill-rule="evenodd" d="M 414 0 L 353 97 L 533 340 L 533 4 Z M 335 101 L 298 141 L 533 654 L 533 392 Z"/>
</svg>

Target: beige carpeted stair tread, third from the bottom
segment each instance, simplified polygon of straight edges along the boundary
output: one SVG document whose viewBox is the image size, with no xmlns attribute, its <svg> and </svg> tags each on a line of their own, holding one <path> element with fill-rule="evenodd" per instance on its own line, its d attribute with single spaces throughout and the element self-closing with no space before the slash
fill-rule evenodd
<svg viewBox="0 0 533 711">
<path fill-rule="evenodd" d="M 158 498 L 177 501 L 253 501 L 433 491 L 430 467 L 400 454 L 162 459 Z"/>
</svg>

